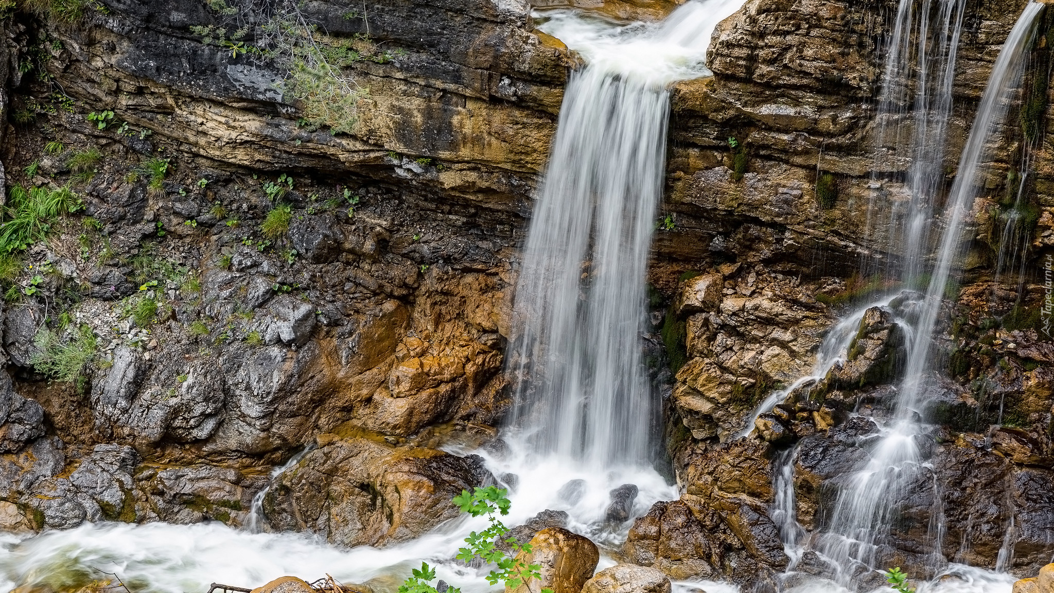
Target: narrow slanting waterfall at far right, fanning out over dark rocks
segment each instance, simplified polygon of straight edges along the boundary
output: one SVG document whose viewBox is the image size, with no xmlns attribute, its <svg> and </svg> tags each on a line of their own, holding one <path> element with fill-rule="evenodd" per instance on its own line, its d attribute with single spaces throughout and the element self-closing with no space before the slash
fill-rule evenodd
<svg viewBox="0 0 1054 593">
<path fill-rule="evenodd" d="M 903 8 L 903 4 L 901 7 Z M 903 489 L 910 487 L 914 473 L 923 468 L 918 444 L 919 437 L 926 432 L 926 426 L 921 421 L 921 415 L 926 412 L 922 400 L 923 386 L 935 370 L 931 366 L 930 357 L 934 329 L 943 307 L 948 282 L 961 260 L 964 241 L 962 230 L 981 181 L 979 175 L 983 169 L 985 149 L 992 136 L 1003 125 L 1012 95 L 1020 84 L 1026 57 L 1042 8 L 1041 4 L 1035 2 L 1026 7 L 993 66 L 945 205 L 942 236 L 926 293 L 915 307 L 916 310 L 906 318 L 912 321 L 914 331 L 909 340 L 909 362 L 892 418 L 886 422 L 874 420 L 879 424 L 879 438 L 872 445 L 870 460 L 863 468 L 843 482 L 828 511 L 824 531 L 813 534 L 812 539 L 806 542 L 809 549 L 837 568 L 835 580 L 838 587 L 855 588 L 856 579 L 862 574 L 876 568 L 884 568 L 877 567 L 876 560 L 879 546 L 884 542 L 883 538 L 893 522 L 893 502 L 899 498 Z M 911 226 L 912 223 L 907 225 Z M 913 248 L 911 245 L 907 247 Z M 856 314 L 858 313 L 847 319 Z M 837 337 L 839 331 L 836 328 L 832 333 Z M 837 341 L 837 338 L 828 337 L 825 347 Z M 828 352 L 821 352 L 820 359 L 827 358 L 831 358 Z M 818 368 L 819 366 L 818 362 Z M 789 463 L 786 460 L 779 466 L 781 470 L 776 477 L 778 492 L 787 489 L 790 478 L 785 474 L 790 471 Z M 787 525 L 796 523 L 784 516 L 787 513 L 786 498 L 784 493 L 780 499 L 782 504 L 778 504 L 776 513 L 782 513 L 780 516 L 784 525 L 784 542 L 793 548 L 798 537 L 788 538 L 787 535 L 788 530 L 793 532 Z M 935 532 L 932 535 L 936 541 L 933 554 L 939 557 L 941 528 L 934 523 L 935 521 L 931 521 L 931 531 Z M 796 550 L 790 554 L 795 557 L 801 551 Z M 1007 558 L 1001 558 L 1002 563 L 1007 561 Z M 961 572 L 965 569 L 959 570 Z M 995 578 L 993 582 L 998 582 L 998 579 Z"/>
</svg>

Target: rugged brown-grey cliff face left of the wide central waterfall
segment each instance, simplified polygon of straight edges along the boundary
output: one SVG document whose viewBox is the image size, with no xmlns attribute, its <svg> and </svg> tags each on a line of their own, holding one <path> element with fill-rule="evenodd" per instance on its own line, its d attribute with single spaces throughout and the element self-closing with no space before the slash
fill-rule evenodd
<svg viewBox="0 0 1054 593">
<path fill-rule="evenodd" d="M 510 261 L 570 57 L 530 33 L 522 3 L 387 3 L 367 19 L 313 3 L 305 18 L 332 39 L 390 51 L 348 65 L 357 119 L 333 135 L 298 123 L 272 62 L 192 33 L 218 22 L 215 7 L 3 21 L 2 63 L 25 65 L 12 71 L 3 161 L 37 164 L 13 180 L 26 188 L 72 181 L 83 206 L 8 257 L 7 527 L 238 524 L 270 465 L 328 434 L 305 461 L 323 474 L 351 449 L 423 460 L 362 478 L 364 503 L 395 523 L 355 508 L 329 513 L 358 528 L 287 525 L 314 481 L 275 489 L 296 511 L 277 523 L 349 544 L 412 537 L 444 514 L 399 520 L 399 496 L 446 504 L 485 479 L 429 447 L 489 435 L 507 405 Z M 42 362 L 63 353 L 81 358 L 63 372 Z"/>
</svg>

